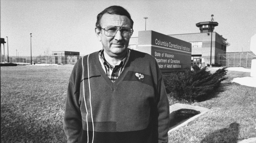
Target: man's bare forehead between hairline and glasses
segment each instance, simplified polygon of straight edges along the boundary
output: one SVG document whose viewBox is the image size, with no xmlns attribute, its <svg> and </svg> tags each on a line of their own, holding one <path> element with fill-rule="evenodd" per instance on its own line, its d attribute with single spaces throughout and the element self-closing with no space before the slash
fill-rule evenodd
<svg viewBox="0 0 256 143">
<path fill-rule="evenodd" d="M 100 20 L 101 26 L 120 26 L 120 25 L 126 25 L 131 26 L 131 21 L 127 16 L 124 15 L 117 15 L 117 14 L 108 14 L 105 13 L 102 15 Z"/>
</svg>

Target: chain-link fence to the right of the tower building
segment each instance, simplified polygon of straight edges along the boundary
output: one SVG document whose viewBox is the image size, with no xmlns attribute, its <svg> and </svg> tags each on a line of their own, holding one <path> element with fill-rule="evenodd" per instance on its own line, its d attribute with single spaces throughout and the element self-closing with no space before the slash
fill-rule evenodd
<svg viewBox="0 0 256 143">
<path fill-rule="evenodd" d="M 225 53 L 217 55 L 217 62 L 226 67 L 251 67 L 251 60 L 256 58 L 252 52 Z"/>
</svg>

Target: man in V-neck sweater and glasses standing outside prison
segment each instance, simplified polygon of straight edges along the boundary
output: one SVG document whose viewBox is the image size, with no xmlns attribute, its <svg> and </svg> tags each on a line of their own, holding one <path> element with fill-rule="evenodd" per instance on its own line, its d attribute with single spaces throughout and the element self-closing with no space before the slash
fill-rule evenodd
<svg viewBox="0 0 256 143">
<path fill-rule="evenodd" d="M 169 102 L 155 58 L 128 49 L 133 20 L 126 9 L 97 16 L 103 49 L 84 56 L 70 76 L 64 131 L 68 142 L 168 141 Z"/>
</svg>

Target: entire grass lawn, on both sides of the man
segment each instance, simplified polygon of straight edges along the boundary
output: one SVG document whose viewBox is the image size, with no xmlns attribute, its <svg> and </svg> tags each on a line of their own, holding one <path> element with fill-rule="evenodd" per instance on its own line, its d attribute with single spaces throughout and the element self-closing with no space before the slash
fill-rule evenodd
<svg viewBox="0 0 256 143">
<path fill-rule="evenodd" d="M 64 143 L 66 88 L 73 66 L 1 67 L 1 142 Z M 228 71 L 216 97 L 193 103 L 210 108 L 169 134 L 169 143 L 236 142 L 256 136 L 256 88 L 230 81 L 250 76 Z M 181 103 L 170 98 L 170 103 Z"/>
</svg>

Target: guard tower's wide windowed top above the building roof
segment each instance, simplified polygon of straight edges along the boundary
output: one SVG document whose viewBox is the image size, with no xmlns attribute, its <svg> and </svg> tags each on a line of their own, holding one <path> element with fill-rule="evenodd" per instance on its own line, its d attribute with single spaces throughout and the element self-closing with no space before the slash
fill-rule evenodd
<svg viewBox="0 0 256 143">
<path fill-rule="evenodd" d="M 199 27 L 201 33 L 207 33 L 207 32 L 213 32 L 214 27 L 218 26 L 219 24 L 217 22 L 200 22 L 197 23 L 196 26 Z"/>
</svg>

